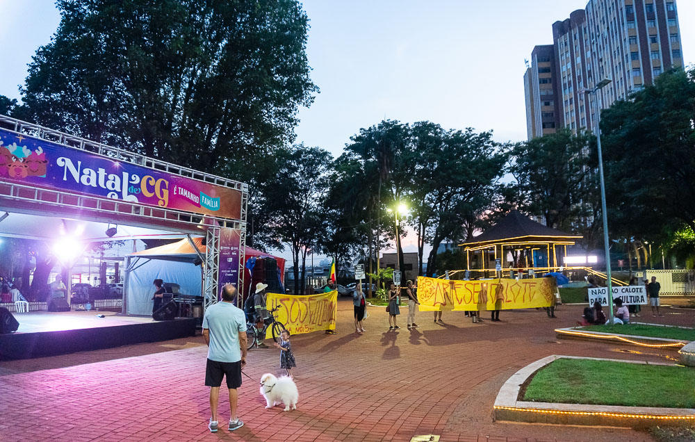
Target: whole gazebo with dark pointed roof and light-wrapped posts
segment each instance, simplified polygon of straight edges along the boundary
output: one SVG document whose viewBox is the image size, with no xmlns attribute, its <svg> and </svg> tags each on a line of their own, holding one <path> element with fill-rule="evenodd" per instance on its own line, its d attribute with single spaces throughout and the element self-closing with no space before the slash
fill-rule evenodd
<svg viewBox="0 0 695 442">
<path fill-rule="evenodd" d="M 497 275 L 529 276 L 536 272 L 557 272 L 567 256 L 567 246 L 579 235 L 566 234 L 511 211 L 505 218 L 479 236 L 459 244 L 466 250 L 466 268 L 471 277 Z M 511 255 L 512 259 L 507 256 Z M 500 259 L 500 272 L 496 262 Z M 476 265 L 472 265 L 476 261 Z"/>
</svg>

